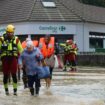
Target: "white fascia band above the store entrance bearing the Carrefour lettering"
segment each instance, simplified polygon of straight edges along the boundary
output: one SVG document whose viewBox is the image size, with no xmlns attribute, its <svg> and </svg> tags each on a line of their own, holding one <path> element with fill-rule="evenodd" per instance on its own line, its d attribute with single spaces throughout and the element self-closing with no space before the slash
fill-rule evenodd
<svg viewBox="0 0 105 105">
<path fill-rule="evenodd" d="M 14 23 L 15 34 L 76 34 L 76 26 L 70 23 L 52 23 L 52 22 L 23 22 Z M 2 25 L 0 30 L 4 30 L 6 25 Z M 0 35 L 3 31 L 0 31 Z"/>
</svg>

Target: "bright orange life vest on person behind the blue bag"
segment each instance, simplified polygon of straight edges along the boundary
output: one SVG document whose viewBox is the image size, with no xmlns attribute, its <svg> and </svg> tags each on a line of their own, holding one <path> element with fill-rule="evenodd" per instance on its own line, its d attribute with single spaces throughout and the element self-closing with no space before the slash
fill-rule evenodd
<svg viewBox="0 0 105 105">
<path fill-rule="evenodd" d="M 54 43 L 55 43 L 55 38 L 51 37 L 48 45 L 45 44 L 45 38 L 40 38 L 39 40 L 39 48 L 44 56 L 50 57 L 51 55 L 54 54 Z"/>
</svg>

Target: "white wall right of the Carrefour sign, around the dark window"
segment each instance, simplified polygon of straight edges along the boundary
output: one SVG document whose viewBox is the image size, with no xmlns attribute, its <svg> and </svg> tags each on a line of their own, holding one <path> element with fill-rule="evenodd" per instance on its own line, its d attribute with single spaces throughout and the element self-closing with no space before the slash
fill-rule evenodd
<svg viewBox="0 0 105 105">
<path fill-rule="evenodd" d="M 76 24 L 76 37 L 77 45 L 79 47 L 79 51 L 81 52 L 89 52 L 91 49 L 89 48 L 89 32 L 101 32 L 105 33 L 105 25 L 104 24 L 95 24 L 95 23 L 77 23 Z M 104 39 L 105 40 L 105 39 Z M 104 48 L 105 48 L 105 41 Z"/>
</svg>

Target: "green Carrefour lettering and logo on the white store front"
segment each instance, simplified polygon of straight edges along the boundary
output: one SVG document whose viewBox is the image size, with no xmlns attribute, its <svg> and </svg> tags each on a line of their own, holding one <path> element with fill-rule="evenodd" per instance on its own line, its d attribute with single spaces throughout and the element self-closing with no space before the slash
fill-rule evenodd
<svg viewBox="0 0 105 105">
<path fill-rule="evenodd" d="M 65 31 L 66 27 L 65 26 L 39 26 L 39 30 L 57 33 L 57 32 Z"/>
</svg>

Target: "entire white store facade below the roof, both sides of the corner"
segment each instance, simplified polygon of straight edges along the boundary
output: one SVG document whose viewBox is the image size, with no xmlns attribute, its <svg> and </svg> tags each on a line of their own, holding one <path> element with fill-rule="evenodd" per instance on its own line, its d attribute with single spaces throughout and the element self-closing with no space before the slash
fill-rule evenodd
<svg viewBox="0 0 105 105">
<path fill-rule="evenodd" d="M 0 26 L 0 35 L 5 32 L 7 24 Z M 74 40 L 77 42 L 80 52 L 90 51 L 89 48 L 89 32 L 105 33 L 105 25 L 94 23 L 73 23 L 73 22 L 21 22 L 14 23 L 15 35 L 38 35 L 38 34 L 53 34 L 53 35 L 74 35 Z M 104 41 L 105 47 L 105 41 Z"/>
</svg>

